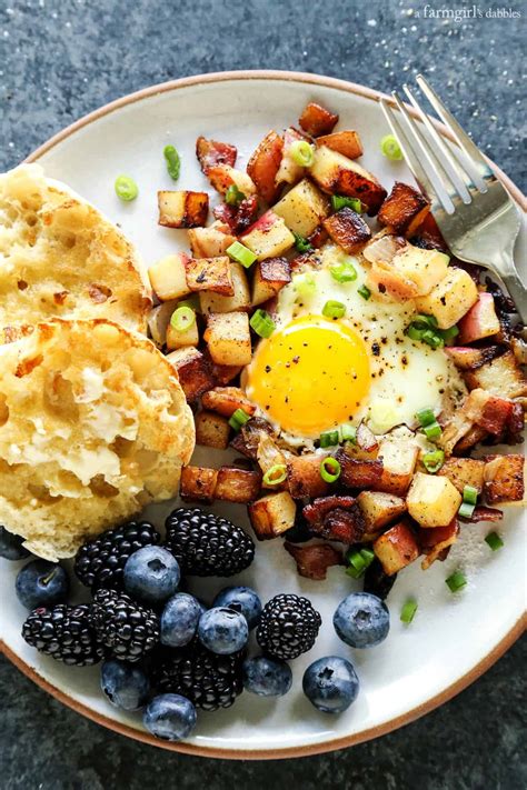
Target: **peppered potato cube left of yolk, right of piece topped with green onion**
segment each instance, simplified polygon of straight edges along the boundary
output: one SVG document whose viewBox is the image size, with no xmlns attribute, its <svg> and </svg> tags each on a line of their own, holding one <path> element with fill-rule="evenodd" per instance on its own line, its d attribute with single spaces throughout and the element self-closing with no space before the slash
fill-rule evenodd
<svg viewBox="0 0 527 790">
<path fill-rule="evenodd" d="M 252 354 L 249 317 L 246 312 L 210 313 L 203 338 L 217 364 L 249 364 Z"/>
</svg>

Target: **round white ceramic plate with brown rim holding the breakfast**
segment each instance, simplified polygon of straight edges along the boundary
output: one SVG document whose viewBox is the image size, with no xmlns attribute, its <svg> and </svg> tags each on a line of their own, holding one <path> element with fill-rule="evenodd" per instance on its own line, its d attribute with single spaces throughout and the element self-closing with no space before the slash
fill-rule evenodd
<svg viewBox="0 0 527 790">
<path fill-rule="evenodd" d="M 296 122 L 306 102 L 315 100 L 340 113 L 339 128 L 360 132 L 366 167 L 389 189 L 395 179 L 411 181 L 411 176 L 402 162 L 391 163 L 380 154 L 379 139 L 389 130 L 376 98 L 367 89 L 310 74 L 209 74 L 115 102 L 61 132 L 32 158 L 44 166 L 48 176 L 66 181 L 119 222 L 150 264 L 165 253 L 187 248 L 185 231 L 157 224 L 156 192 L 173 188 L 162 158 L 166 143 L 175 143 L 181 153 L 178 187 L 209 190 L 195 157 L 198 134 L 233 142 L 239 162 L 245 164 L 269 129 Z M 139 184 L 139 198 L 132 203 L 122 203 L 115 196 L 113 180 L 119 173 L 131 174 Z M 207 456 L 210 460 L 208 450 Z M 150 508 L 147 516 L 161 524 L 173 506 Z M 217 511 L 250 531 L 243 507 L 220 506 Z M 210 757 L 314 753 L 379 736 L 449 699 L 520 633 L 525 543 L 519 520 L 519 511 L 514 510 L 499 526 L 506 543 L 501 551 L 493 553 L 484 542 L 489 524 L 468 526 L 445 563 L 437 562 L 424 572 L 416 562 L 401 572 L 388 599 L 389 637 L 378 648 L 365 651 L 347 648 L 331 626 L 337 603 L 360 589 L 360 582 L 338 568 L 329 570 L 326 582 L 301 579 L 281 540 L 258 543 L 255 563 L 238 581 L 255 587 L 264 600 L 282 591 L 310 598 L 324 619 L 318 641 L 308 654 L 292 662 L 295 682 L 287 697 L 267 701 L 242 694 L 229 710 L 201 713 L 192 740 L 168 748 Z M 23 642 L 20 628 L 26 612 L 13 591 L 20 563 L 0 563 L 7 654 L 36 682 L 83 714 L 128 736 L 167 746 L 143 731 L 139 716 L 127 716 L 107 703 L 99 691 L 97 668 L 63 667 Z M 445 579 L 457 568 L 464 569 L 468 584 L 454 596 Z M 199 589 L 209 598 L 222 586 L 221 580 L 213 580 Z M 406 627 L 399 612 L 409 596 L 417 598 L 419 609 Z M 351 659 L 361 681 L 356 703 L 338 718 L 318 713 L 301 691 L 305 668 L 331 653 Z"/>
</svg>

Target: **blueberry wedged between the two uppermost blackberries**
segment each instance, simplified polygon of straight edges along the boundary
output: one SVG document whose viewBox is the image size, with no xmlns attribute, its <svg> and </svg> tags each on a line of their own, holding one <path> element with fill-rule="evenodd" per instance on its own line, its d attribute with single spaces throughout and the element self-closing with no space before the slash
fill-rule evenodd
<svg viewBox="0 0 527 790">
<path fill-rule="evenodd" d="M 128 558 L 122 572 L 125 589 L 145 603 L 162 603 L 178 589 L 177 559 L 160 546 L 145 546 Z"/>
</svg>

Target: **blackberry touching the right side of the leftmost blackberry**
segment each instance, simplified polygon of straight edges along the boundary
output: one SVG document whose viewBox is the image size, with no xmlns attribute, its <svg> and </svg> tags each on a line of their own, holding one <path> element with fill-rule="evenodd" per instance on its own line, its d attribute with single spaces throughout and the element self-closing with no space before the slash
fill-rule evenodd
<svg viewBox="0 0 527 790">
<path fill-rule="evenodd" d="M 97 637 L 115 658 L 138 661 L 159 641 L 156 612 L 125 593 L 98 590 L 92 610 Z"/>
</svg>

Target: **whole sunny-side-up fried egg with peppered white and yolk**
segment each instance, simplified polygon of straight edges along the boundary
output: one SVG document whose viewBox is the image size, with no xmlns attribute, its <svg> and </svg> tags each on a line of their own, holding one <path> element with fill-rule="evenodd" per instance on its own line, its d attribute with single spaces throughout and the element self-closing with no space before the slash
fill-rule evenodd
<svg viewBox="0 0 527 790">
<path fill-rule="evenodd" d="M 245 371 L 248 397 L 276 429 L 292 439 L 312 440 L 342 423 L 367 420 L 375 433 L 416 424 L 419 409 L 438 413 L 446 400 L 466 392 L 447 354 L 412 341 L 405 329 L 415 308 L 359 293 L 368 264 L 345 256 L 334 244 L 318 254 L 309 271 L 309 293 L 299 278 L 279 293 L 272 316 L 276 329 L 262 339 Z M 337 282 L 330 267 L 342 260 L 357 271 L 352 282 Z M 345 306 L 339 319 L 326 318 L 324 306 Z"/>
</svg>

